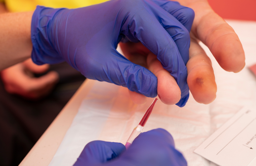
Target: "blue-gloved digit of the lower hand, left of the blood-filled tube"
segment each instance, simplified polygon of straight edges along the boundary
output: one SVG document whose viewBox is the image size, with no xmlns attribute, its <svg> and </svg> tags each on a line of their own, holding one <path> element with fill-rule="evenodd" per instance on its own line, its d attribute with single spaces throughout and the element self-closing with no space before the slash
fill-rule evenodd
<svg viewBox="0 0 256 166">
<path fill-rule="evenodd" d="M 73 166 L 105 163 L 118 157 L 126 148 L 118 142 L 91 141 L 78 157 Z"/>
</svg>

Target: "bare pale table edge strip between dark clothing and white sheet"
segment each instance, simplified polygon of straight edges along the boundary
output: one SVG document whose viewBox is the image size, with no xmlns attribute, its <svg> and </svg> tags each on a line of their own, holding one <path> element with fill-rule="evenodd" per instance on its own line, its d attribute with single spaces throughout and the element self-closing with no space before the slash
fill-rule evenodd
<svg viewBox="0 0 256 166">
<path fill-rule="evenodd" d="M 86 79 L 19 166 L 48 166 L 95 80 Z"/>
</svg>

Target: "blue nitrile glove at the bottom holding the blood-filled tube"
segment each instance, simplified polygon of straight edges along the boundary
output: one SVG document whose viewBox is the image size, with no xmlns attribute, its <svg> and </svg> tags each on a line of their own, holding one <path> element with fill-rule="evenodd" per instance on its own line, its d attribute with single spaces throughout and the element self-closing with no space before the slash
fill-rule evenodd
<svg viewBox="0 0 256 166">
<path fill-rule="evenodd" d="M 73 166 L 186 166 L 183 155 L 164 129 L 141 133 L 125 151 L 117 142 L 92 141 L 83 149 Z"/>
</svg>

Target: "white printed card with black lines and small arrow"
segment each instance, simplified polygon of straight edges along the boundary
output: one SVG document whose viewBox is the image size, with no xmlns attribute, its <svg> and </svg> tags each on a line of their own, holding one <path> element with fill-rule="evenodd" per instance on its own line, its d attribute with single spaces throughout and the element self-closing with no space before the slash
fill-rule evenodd
<svg viewBox="0 0 256 166">
<path fill-rule="evenodd" d="M 220 166 L 256 166 L 256 109 L 240 110 L 194 153 Z"/>
</svg>

